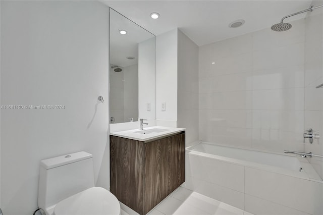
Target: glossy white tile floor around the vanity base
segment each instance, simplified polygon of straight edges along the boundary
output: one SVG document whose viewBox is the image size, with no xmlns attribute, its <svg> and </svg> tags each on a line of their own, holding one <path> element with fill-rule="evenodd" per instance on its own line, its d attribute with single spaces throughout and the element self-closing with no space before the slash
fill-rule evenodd
<svg viewBox="0 0 323 215">
<path fill-rule="evenodd" d="M 121 215 L 137 215 L 129 207 L 122 205 Z M 149 215 L 252 215 L 247 211 L 209 198 L 183 187 L 177 188 L 166 199 L 153 208 Z"/>
</svg>

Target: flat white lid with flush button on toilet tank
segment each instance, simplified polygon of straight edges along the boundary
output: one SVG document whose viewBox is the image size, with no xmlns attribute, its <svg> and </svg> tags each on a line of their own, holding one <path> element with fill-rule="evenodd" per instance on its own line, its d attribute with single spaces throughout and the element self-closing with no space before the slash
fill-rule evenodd
<svg viewBox="0 0 323 215">
<path fill-rule="evenodd" d="M 80 151 L 71 154 L 65 154 L 58 157 L 52 157 L 40 161 L 40 166 L 44 167 L 46 170 L 52 169 L 55 167 L 60 167 L 63 165 L 71 164 L 78 162 L 80 160 L 88 159 L 93 157 L 92 154 L 85 151 Z"/>
</svg>

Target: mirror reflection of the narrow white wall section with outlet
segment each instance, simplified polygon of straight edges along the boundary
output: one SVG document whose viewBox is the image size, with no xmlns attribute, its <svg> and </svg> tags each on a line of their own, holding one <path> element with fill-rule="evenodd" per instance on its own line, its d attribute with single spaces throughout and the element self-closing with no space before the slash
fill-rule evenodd
<svg viewBox="0 0 323 215">
<path fill-rule="evenodd" d="M 156 119 L 156 38 L 138 44 L 139 118 Z M 150 103 L 150 111 L 147 111 Z"/>
</svg>

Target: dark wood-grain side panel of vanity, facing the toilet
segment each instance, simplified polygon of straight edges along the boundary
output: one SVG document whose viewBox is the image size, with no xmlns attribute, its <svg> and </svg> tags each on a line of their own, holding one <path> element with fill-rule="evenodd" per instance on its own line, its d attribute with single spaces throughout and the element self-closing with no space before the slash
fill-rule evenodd
<svg viewBox="0 0 323 215">
<path fill-rule="evenodd" d="M 143 142 L 110 136 L 110 191 L 143 213 Z"/>
</svg>

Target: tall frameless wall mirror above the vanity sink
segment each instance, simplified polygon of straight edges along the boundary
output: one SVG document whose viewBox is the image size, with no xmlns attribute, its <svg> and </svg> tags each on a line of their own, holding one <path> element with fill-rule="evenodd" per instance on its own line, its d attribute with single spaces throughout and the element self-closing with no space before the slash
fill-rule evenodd
<svg viewBox="0 0 323 215">
<path fill-rule="evenodd" d="M 156 37 L 110 8 L 110 123 L 156 116 Z"/>
</svg>

